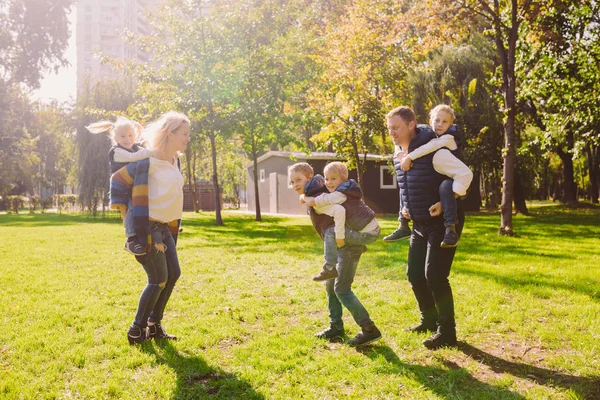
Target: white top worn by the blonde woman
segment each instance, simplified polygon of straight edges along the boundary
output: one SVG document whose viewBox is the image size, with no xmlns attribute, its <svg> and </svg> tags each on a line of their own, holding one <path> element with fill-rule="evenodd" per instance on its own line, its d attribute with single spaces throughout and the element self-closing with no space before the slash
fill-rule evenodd
<svg viewBox="0 0 600 400">
<path fill-rule="evenodd" d="M 183 212 L 183 175 L 174 164 L 150 158 L 148 170 L 148 215 L 151 219 L 171 222 Z"/>
</svg>

